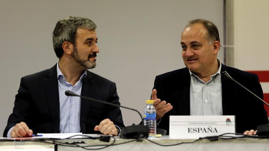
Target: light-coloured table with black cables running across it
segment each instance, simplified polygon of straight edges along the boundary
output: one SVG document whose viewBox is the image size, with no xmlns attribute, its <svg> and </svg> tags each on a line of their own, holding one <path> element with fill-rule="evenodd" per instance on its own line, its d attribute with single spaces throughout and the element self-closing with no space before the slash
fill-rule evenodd
<svg viewBox="0 0 269 151">
<path fill-rule="evenodd" d="M 115 144 L 123 143 L 130 141 L 131 139 L 121 139 L 116 138 Z M 72 139 L 72 140 L 60 140 L 61 142 L 85 142 L 80 145 L 100 145 L 100 144 L 109 144 L 108 142 L 102 142 L 100 140 L 93 140 L 93 139 Z M 154 142 L 160 143 L 160 144 L 175 144 L 180 142 L 193 142 L 193 139 L 169 139 L 168 136 L 163 136 L 161 138 L 156 138 Z M 112 140 L 110 140 L 110 143 Z M 57 151 L 81 151 L 85 150 L 82 148 L 75 148 L 75 147 L 65 147 L 65 146 L 57 146 Z M 121 145 L 115 145 L 115 146 L 109 146 L 105 149 L 101 149 L 101 151 L 166 151 L 166 150 L 180 150 L 180 151 L 200 151 L 200 150 L 214 150 L 214 151 L 267 151 L 269 149 L 269 139 L 259 139 L 259 138 L 238 138 L 238 139 L 219 139 L 217 141 L 209 141 L 208 139 L 199 140 L 195 143 L 191 144 L 181 144 L 177 146 L 158 146 L 156 144 L 153 144 L 152 142 L 149 142 L 146 139 L 142 139 L 142 142 L 129 142 L 127 144 L 121 144 Z M 54 145 L 47 144 L 44 142 L 28 142 L 28 141 L 2 141 L 0 142 L 0 151 L 2 150 L 35 150 L 35 151 L 46 151 L 54 150 Z"/>
</svg>

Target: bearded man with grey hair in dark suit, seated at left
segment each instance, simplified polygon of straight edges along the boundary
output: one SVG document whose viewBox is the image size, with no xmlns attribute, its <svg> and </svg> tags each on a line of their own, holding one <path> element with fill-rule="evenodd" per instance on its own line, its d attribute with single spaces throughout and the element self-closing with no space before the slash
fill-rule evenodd
<svg viewBox="0 0 269 151">
<path fill-rule="evenodd" d="M 96 66 L 96 28 L 83 17 L 58 21 L 53 48 L 59 62 L 21 78 L 4 137 L 71 132 L 118 135 L 124 127 L 119 107 L 64 95 L 70 90 L 120 105 L 116 84 L 87 70 Z"/>
</svg>

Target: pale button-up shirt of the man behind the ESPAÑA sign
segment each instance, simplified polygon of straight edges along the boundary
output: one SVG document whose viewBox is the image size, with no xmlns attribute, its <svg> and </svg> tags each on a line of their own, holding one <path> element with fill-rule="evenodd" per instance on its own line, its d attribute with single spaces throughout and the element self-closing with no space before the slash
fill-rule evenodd
<svg viewBox="0 0 269 151">
<path fill-rule="evenodd" d="M 190 115 L 223 115 L 221 62 L 219 69 L 210 76 L 211 80 L 204 82 L 190 70 Z"/>
</svg>

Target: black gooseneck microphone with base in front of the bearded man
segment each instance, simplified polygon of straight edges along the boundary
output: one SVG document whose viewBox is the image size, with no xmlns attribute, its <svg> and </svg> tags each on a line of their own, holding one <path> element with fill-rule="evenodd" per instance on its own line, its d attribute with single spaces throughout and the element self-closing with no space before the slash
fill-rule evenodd
<svg viewBox="0 0 269 151">
<path fill-rule="evenodd" d="M 89 97 L 82 96 L 82 95 L 78 95 L 78 94 L 76 94 L 74 92 L 71 92 L 71 91 L 68 91 L 68 90 L 65 91 L 64 94 L 66 96 L 77 96 L 77 97 L 81 97 L 83 99 L 87 99 L 87 100 L 91 100 L 91 101 L 95 101 L 95 102 L 100 102 L 100 103 L 109 104 L 109 105 L 112 105 L 112 106 L 122 107 L 122 108 L 125 108 L 125 109 L 128 109 L 128 110 L 136 111 L 141 117 L 142 125 L 133 124 L 131 126 L 126 126 L 126 127 L 122 128 L 121 131 L 120 131 L 120 138 L 128 138 L 128 139 L 130 139 L 130 138 L 139 138 L 139 137 L 142 137 L 142 136 L 144 136 L 144 137 L 149 136 L 149 127 L 144 125 L 143 117 L 142 117 L 141 113 L 139 113 L 138 110 L 136 110 L 136 109 L 129 108 L 129 107 L 126 107 L 126 106 L 121 106 L 121 105 L 110 103 L 110 102 L 105 102 L 105 101 L 94 99 L 94 98 L 89 98 Z"/>
</svg>

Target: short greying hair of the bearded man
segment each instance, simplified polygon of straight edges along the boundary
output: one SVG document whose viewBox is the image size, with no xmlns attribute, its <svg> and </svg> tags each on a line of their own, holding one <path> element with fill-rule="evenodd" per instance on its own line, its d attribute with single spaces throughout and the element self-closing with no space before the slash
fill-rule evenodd
<svg viewBox="0 0 269 151">
<path fill-rule="evenodd" d="M 64 41 L 69 41 L 76 46 L 76 35 L 78 28 L 85 28 L 90 31 L 95 31 L 97 25 L 90 19 L 77 16 L 68 16 L 59 20 L 53 31 L 53 49 L 58 58 L 64 53 L 62 45 Z"/>
</svg>

